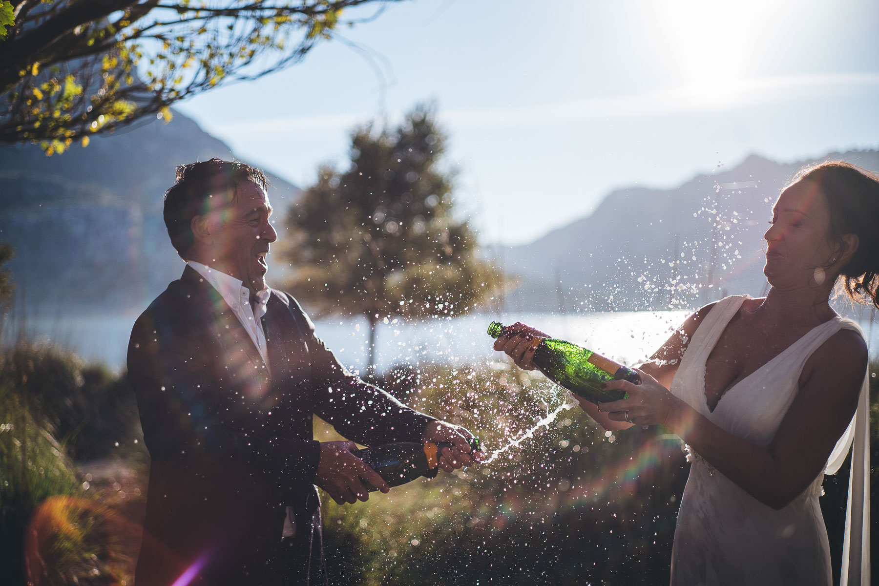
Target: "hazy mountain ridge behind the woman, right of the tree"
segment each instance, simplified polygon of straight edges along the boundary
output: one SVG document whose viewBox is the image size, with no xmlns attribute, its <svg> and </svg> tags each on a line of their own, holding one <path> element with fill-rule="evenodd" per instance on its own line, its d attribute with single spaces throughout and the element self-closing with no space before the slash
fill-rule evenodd
<svg viewBox="0 0 879 586">
<path fill-rule="evenodd" d="M 749 156 L 671 190 L 611 192 L 591 215 L 503 250 L 521 285 L 514 311 L 696 307 L 766 289 L 762 244 L 779 190 L 807 163 L 841 159 L 879 170 L 879 151 L 775 163 Z"/>
</svg>

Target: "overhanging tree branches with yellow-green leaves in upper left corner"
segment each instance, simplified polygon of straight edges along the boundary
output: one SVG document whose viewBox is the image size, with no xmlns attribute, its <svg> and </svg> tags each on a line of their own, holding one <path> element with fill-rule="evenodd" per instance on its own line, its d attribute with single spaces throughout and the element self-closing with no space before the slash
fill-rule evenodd
<svg viewBox="0 0 879 586">
<path fill-rule="evenodd" d="M 3 0 L 0 141 L 47 154 L 294 64 L 343 10 L 396 0 Z"/>
</svg>

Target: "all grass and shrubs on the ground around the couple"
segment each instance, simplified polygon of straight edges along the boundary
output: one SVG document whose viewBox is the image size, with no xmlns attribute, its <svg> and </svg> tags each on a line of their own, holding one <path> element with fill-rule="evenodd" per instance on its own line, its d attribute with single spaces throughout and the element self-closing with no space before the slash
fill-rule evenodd
<svg viewBox="0 0 879 586">
<path fill-rule="evenodd" d="M 421 365 L 386 379 L 414 408 L 473 430 L 488 451 L 565 402 L 541 375 L 501 362 Z M 876 461 L 879 386 L 871 383 Z M 54 347 L 0 355 L 4 583 L 131 583 L 148 459 L 134 443 L 127 393 L 122 377 Z M 338 438 L 319 420 L 315 437 Z M 77 470 L 77 461 L 96 458 L 93 478 Z M 836 565 L 846 470 L 825 479 L 821 499 Z M 580 409 L 562 411 L 490 464 L 375 493 L 367 503 L 324 498 L 331 583 L 665 584 L 686 474 L 674 438 L 641 428 L 607 434 Z"/>
</svg>

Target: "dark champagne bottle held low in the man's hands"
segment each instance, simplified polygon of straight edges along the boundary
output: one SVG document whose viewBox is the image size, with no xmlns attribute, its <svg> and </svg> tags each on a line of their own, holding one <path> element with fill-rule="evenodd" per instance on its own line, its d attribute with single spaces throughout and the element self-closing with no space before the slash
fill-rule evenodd
<svg viewBox="0 0 879 586">
<path fill-rule="evenodd" d="M 373 445 L 372 447 L 352 452 L 362 459 L 384 479 L 389 486 L 396 487 L 416 478 L 426 476 L 433 478 L 439 472 L 439 456 L 444 447 L 452 444 L 444 442 L 395 442 L 393 444 Z M 479 450 L 479 440 L 470 440 L 471 451 Z M 363 481 L 363 486 L 372 492 L 378 490 L 372 484 Z"/>
</svg>

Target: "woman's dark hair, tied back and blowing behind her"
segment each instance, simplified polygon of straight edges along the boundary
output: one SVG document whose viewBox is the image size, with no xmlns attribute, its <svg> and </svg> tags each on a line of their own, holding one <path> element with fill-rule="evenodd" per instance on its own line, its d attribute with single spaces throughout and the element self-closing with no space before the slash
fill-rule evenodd
<svg viewBox="0 0 879 586">
<path fill-rule="evenodd" d="M 830 210 L 830 238 L 840 250 L 842 235 L 858 236 L 858 248 L 839 275 L 848 296 L 879 307 L 879 177 L 842 161 L 828 161 L 800 170 L 797 181 L 817 184 Z"/>
</svg>

